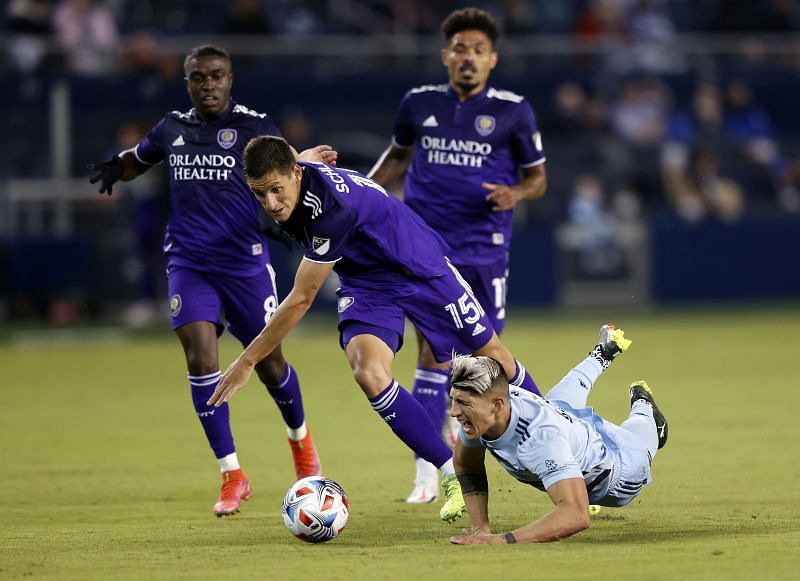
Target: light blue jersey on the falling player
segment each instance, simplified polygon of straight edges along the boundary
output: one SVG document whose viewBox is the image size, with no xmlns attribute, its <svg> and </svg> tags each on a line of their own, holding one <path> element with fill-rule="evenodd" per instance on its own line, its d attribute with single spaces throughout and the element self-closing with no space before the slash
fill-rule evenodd
<svg viewBox="0 0 800 581">
<path fill-rule="evenodd" d="M 461 441 L 483 445 L 520 482 L 546 490 L 566 478 L 583 478 L 589 501 L 599 503 L 621 474 L 614 428 L 591 408 L 564 410 L 530 392 L 511 388 L 511 421 L 496 440 Z M 615 503 L 616 504 L 616 503 Z"/>
</svg>

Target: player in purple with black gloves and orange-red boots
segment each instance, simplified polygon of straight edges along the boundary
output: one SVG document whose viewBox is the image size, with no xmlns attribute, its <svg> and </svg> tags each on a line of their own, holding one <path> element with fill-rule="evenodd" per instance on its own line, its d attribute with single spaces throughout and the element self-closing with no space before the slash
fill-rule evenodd
<svg viewBox="0 0 800 581">
<path fill-rule="evenodd" d="M 186 88 L 194 108 L 172 111 L 133 149 L 90 165 L 92 183 L 111 194 L 128 181 L 167 162 L 171 191 L 164 240 L 172 328 L 183 346 L 192 401 L 222 472 L 214 514 L 239 511 L 252 494 L 239 465 L 228 406 L 206 401 L 220 380 L 217 340 L 224 311 L 231 333 L 247 345 L 278 306 L 267 240 L 259 229 L 261 208 L 242 173 L 241 155 L 254 136 L 278 133 L 272 120 L 231 99 L 233 72 L 228 53 L 199 46 L 186 55 Z M 294 150 L 292 150 L 294 151 Z M 318 146 L 301 159 L 334 163 L 336 152 Z M 300 383 L 276 344 L 255 363 L 256 373 L 287 426 L 297 478 L 320 473 L 320 462 L 305 422 Z"/>
</svg>

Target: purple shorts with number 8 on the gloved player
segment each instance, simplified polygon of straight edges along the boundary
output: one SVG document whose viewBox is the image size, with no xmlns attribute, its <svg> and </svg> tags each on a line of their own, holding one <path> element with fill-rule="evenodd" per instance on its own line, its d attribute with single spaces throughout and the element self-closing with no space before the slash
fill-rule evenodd
<svg viewBox="0 0 800 581">
<path fill-rule="evenodd" d="M 231 334 L 249 345 L 278 308 L 275 271 L 269 264 L 255 276 L 222 276 L 172 266 L 167 272 L 172 329 L 195 321 L 209 321 L 224 329 L 221 314 Z"/>
</svg>

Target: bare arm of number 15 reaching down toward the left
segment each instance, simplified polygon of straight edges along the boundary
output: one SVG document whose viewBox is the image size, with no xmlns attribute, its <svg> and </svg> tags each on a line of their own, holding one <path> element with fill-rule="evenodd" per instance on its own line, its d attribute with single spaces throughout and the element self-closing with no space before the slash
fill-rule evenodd
<svg viewBox="0 0 800 581">
<path fill-rule="evenodd" d="M 278 305 L 275 314 L 258 336 L 225 370 L 217 389 L 207 402 L 208 405 L 221 406 L 245 386 L 256 363 L 272 353 L 306 314 L 328 274 L 333 270 L 333 265 L 333 262 L 319 263 L 309 260 L 300 263 L 291 292 Z"/>
</svg>

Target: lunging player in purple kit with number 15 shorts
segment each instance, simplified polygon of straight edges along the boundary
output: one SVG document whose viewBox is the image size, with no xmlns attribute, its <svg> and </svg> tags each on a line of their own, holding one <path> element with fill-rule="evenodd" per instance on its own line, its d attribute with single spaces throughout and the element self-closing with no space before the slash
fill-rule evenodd
<svg viewBox="0 0 800 581">
<path fill-rule="evenodd" d="M 416 454 L 441 470 L 452 521 L 465 510 L 453 455 L 425 409 L 392 376 L 405 318 L 439 362 L 453 349 L 501 363 L 512 385 L 531 389 L 525 372 L 492 328 L 470 286 L 445 257 L 445 243 L 413 210 L 364 175 L 296 162 L 280 137 L 262 136 L 244 151 L 256 199 L 305 248 L 294 287 L 264 329 L 228 367 L 209 404 L 224 405 L 257 361 L 305 315 L 332 270 L 339 276 L 340 344 L 372 408 Z"/>
</svg>

